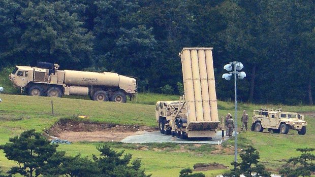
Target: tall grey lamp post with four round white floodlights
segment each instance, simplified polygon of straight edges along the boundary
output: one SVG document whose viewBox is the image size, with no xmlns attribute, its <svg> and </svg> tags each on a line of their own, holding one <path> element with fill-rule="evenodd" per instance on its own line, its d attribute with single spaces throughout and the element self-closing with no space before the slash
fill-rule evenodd
<svg viewBox="0 0 315 177">
<path fill-rule="evenodd" d="M 234 66 L 234 71 L 230 72 Z M 235 136 L 235 145 L 234 145 L 234 162 L 237 162 L 237 89 L 236 89 L 236 75 L 238 79 L 244 79 L 246 77 L 245 72 L 238 72 L 238 70 L 241 70 L 243 68 L 243 64 L 241 62 L 233 61 L 229 64 L 226 64 L 224 66 L 224 69 L 226 69 L 229 73 L 223 74 L 222 78 L 226 80 L 231 80 L 232 74 L 234 74 L 234 100 L 235 100 L 235 122 L 234 122 L 234 136 Z"/>
</svg>

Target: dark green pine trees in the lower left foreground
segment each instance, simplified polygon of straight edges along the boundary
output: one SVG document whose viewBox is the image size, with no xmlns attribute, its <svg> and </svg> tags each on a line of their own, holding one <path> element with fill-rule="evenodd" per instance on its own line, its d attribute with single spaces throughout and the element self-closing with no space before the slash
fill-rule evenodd
<svg viewBox="0 0 315 177">
<path fill-rule="evenodd" d="M 57 145 L 35 130 L 27 130 L 20 137 L 9 139 L 10 143 L 1 145 L 9 160 L 18 166 L 12 167 L 7 173 L 22 176 L 125 176 L 149 177 L 141 168 L 141 161 L 131 162 L 132 155 L 123 151 L 111 150 L 108 145 L 98 146 L 99 156 L 93 155 L 93 160 L 77 155 L 65 156 L 64 151 L 57 152 Z"/>
</svg>

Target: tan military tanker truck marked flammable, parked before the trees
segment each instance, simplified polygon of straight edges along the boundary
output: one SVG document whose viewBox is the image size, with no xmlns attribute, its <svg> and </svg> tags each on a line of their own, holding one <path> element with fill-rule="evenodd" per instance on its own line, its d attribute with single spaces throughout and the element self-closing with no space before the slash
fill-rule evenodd
<svg viewBox="0 0 315 177">
<path fill-rule="evenodd" d="M 97 101 L 126 102 L 137 93 L 135 78 L 117 73 L 94 73 L 78 70 L 58 70 L 58 64 L 40 62 L 37 67 L 16 66 L 9 75 L 21 93 L 31 96 L 61 97 L 88 95 Z"/>
</svg>

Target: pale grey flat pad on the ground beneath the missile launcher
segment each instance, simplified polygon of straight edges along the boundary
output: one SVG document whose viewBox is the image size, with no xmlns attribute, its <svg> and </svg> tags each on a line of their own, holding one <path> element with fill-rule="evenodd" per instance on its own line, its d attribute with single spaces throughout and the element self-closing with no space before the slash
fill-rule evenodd
<svg viewBox="0 0 315 177">
<path fill-rule="evenodd" d="M 233 133 L 234 134 L 234 133 Z M 187 138 L 187 139 L 180 139 L 178 137 L 172 137 L 171 135 L 165 135 L 160 133 L 159 131 L 153 132 L 145 132 L 144 134 L 140 135 L 131 135 L 125 137 L 121 140 L 122 143 L 179 143 L 179 144 L 216 144 L 220 145 L 222 142 L 229 139 L 228 136 L 225 136 L 222 139 L 222 132 L 216 132 L 216 136 L 212 138 Z"/>
</svg>

